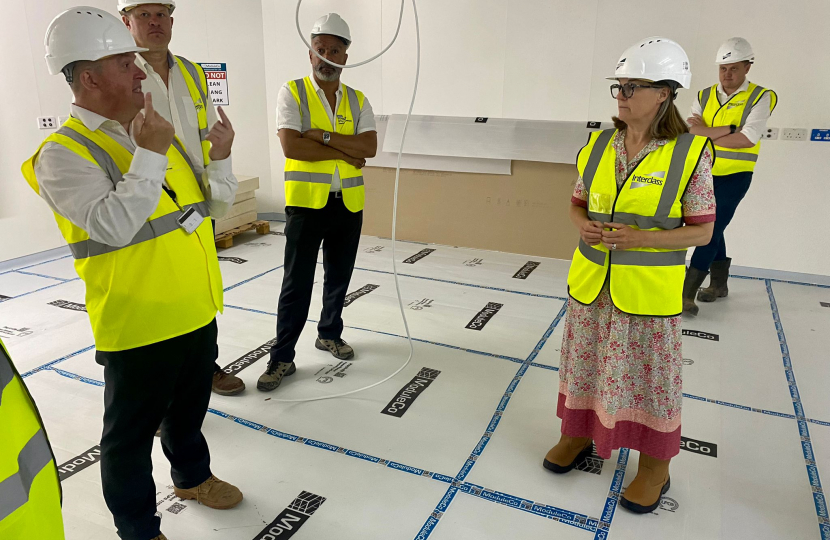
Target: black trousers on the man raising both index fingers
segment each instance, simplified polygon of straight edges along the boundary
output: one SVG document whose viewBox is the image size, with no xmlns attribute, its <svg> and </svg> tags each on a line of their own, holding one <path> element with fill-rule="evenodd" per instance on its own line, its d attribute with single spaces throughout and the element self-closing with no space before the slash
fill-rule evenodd
<svg viewBox="0 0 830 540">
<path fill-rule="evenodd" d="M 124 540 L 160 533 L 150 453 L 161 424 L 161 445 L 173 484 L 196 487 L 210 478 L 202 421 L 216 360 L 216 321 L 177 338 L 120 352 L 95 353 L 104 366 L 104 499 Z"/>
</svg>

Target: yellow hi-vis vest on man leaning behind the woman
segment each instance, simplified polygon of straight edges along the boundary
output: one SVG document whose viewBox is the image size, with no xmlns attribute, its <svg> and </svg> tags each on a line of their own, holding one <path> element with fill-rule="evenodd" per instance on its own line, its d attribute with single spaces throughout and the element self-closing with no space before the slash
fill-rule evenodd
<svg viewBox="0 0 830 540">
<path fill-rule="evenodd" d="M 718 85 L 710 86 L 697 94 L 701 115 L 709 127 L 721 127 L 736 125 L 743 127 L 752 108 L 758 104 L 765 93 L 770 95 L 770 114 L 778 104 L 778 95 L 767 88 L 754 83 L 743 92 L 735 92 L 726 103 L 721 104 L 718 99 Z M 761 151 L 761 141 L 758 141 L 752 148 L 723 148 L 715 145 L 717 162 L 712 168 L 714 176 L 725 176 L 739 172 L 752 172 L 755 163 L 758 161 L 758 153 Z"/>
</svg>

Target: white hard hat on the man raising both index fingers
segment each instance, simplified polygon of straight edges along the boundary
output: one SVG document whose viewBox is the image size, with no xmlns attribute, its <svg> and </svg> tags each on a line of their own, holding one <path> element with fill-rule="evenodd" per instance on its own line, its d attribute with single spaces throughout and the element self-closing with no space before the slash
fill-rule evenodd
<svg viewBox="0 0 830 540">
<path fill-rule="evenodd" d="M 128 52 L 144 52 L 115 16 L 94 7 L 68 9 L 52 19 L 46 30 L 46 64 L 56 75 L 78 60 L 100 60 Z"/>
</svg>

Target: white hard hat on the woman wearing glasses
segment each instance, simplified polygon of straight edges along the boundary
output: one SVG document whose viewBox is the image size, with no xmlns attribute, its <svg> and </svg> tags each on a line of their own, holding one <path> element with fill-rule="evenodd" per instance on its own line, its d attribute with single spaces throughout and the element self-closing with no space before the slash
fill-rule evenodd
<svg viewBox="0 0 830 540">
<path fill-rule="evenodd" d="M 683 47 L 664 37 L 650 37 L 626 49 L 608 79 L 674 81 L 683 88 L 692 83 L 689 57 Z"/>
</svg>

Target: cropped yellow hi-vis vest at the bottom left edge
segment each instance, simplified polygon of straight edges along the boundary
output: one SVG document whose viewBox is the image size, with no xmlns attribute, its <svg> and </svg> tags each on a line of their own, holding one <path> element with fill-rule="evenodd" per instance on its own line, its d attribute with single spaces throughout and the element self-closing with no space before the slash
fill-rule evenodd
<svg viewBox="0 0 830 540">
<path fill-rule="evenodd" d="M 0 341 L 0 538 L 63 540 L 61 485 L 32 396 Z"/>
</svg>

